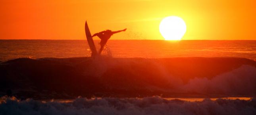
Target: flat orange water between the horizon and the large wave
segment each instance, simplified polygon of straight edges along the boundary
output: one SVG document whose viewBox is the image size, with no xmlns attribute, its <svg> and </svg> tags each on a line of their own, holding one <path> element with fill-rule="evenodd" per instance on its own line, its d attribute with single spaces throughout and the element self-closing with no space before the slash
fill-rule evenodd
<svg viewBox="0 0 256 115">
<path fill-rule="evenodd" d="M 94 41 L 97 49 L 100 40 Z M 104 54 L 119 58 L 241 57 L 256 60 L 256 40 L 109 40 Z M 0 40 L 0 61 L 90 56 L 86 40 Z"/>
</svg>

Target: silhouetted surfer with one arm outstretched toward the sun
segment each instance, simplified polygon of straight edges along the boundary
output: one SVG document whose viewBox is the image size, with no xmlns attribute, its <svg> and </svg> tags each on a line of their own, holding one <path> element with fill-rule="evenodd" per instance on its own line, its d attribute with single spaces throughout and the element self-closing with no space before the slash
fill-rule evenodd
<svg viewBox="0 0 256 115">
<path fill-rule="evenodd" d="M 106 30 L 106 31 L 102 31 L 99 33 L 95 33 L 94 35 L 92 35 L 92 37 L 94 36 L 98 36 L 100 38 L 100 50 L 99 50 L 99 54 L 101 54 L 105 44 L 108 42 L 108 39 L 114 35 L 115 33 L 119 33 L 121 31 L 126 31 L 126 29 L 120 30 L 120 31 L 111 31 L 111 30 Z"/>
</svg>

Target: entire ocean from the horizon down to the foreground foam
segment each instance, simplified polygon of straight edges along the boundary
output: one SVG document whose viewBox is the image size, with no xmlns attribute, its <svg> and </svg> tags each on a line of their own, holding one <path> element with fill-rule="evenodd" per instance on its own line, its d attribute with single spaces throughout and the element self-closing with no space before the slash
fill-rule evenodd
<svg viewBox="0 0 256 115">
<path fill-rule="evenodd" d="M 256 115 L 256 40 L 107 45 L 0 40 L 0 115 Z"/>
</svg>

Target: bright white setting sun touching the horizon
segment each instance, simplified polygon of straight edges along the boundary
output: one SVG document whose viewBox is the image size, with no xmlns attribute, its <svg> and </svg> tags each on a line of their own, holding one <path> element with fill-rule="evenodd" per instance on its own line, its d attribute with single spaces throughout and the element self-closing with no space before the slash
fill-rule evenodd
<svg viewBox="0 0 256 115">
<path fill-rule="evenodd" d="M 185 21 L 177 16 L 169 16 L 164 18 L 159 30 L 165 40 L 181 40 L 187 30 Z"/>
</svg>

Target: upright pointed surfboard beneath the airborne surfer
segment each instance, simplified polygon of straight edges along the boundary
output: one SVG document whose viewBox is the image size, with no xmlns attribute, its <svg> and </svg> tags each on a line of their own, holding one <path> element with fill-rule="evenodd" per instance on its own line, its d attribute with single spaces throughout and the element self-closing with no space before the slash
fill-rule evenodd
<svg viewBox="0 0 256 115">
<path fill-rule="evenodd" d="M 85 35 L 86 35 L 86 38 L 87 38 L 87 42 L 88 42 L 88 44 L 90 46 L 90 50 L 92 51 L 92 56 L 91 57 L 94 57 L 98 53 L 97 53 L 96 47 L 94 45 L 94 42 L 93 42 L 93 39 L 92 39 L 92 35 L 90 34 L 90 30 L 89 30 L 87 21 L 85 21 Z"/>
</svg>

